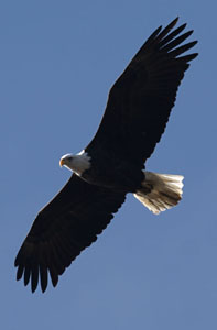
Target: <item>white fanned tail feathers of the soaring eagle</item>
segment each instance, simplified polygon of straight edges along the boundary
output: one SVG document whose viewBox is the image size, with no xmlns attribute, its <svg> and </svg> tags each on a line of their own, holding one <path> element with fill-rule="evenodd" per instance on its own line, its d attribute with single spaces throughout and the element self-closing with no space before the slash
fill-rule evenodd
<svg viewBox="0 0 217 330">
<path fill-rule="evenodd" d="M 154 215 L 174 207 L 182 199 L 184 176 L 148 170 L 144 170 L 144 175 L 142 188 L 134 197 Z"/>
</svg>

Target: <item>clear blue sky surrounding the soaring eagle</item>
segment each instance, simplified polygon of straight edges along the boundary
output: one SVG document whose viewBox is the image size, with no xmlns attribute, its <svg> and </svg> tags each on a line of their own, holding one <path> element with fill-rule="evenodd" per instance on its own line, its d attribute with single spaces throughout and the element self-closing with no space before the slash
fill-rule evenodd
<svg viewBox="0 0 217 330">
<path fill-rule="evenodd" d="M 1 1 L 1 329 L 217 329 L 216 11 L 197 0 Z M 59 157 L 87 145 L 111 85 L 176 15 L 199 57 L 147 168 L 183 174 L 183 201 L 156 217 L 129 196 L 58 286 L 32 295 L 13 261 L 70 175 Z"/>
</svg>

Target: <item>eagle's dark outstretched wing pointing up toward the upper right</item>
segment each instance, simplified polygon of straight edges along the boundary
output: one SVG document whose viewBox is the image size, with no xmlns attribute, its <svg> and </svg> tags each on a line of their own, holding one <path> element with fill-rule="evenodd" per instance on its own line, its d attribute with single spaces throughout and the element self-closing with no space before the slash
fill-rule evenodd
<svg viewBox="0 0 217 330">
<path fill-rule="evenodd" d="M 121 154 L 138 166 L 152 154 L 164 132 L 177 87 L 197 54 L 180 56 L 197 42 L 180 46 L 193 31 L 181 34 L 186 24 L 171 30 L 175 19 L 162 32 L 148 38 L 109 92 L 99 129 L 87 146 Z"/>
</svg>

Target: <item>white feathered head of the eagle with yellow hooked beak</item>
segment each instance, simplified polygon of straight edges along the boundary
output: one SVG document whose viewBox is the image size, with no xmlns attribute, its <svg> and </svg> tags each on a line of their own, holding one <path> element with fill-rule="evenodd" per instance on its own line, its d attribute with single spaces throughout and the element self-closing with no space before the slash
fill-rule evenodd
<svg viewBox="0 0 217 330">
<path fill-rule="evenodd" d="M 59 165 L 66 166 L 68 169 L 75 172 L 77 175 L 83 175 L 83 173 L 90 167 L 90 156 L 85 151 L 79 154 L 66 154 L 61 161 Z"/>
</svg>

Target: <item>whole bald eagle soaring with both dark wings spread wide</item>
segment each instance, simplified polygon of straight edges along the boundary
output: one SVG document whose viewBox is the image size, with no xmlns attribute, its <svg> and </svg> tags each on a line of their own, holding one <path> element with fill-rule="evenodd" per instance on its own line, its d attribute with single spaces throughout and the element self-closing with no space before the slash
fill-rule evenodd
<svg viewBox="0 0 217 330">
<path fill-rule="evenodd" d="M 181 45 L 192 33 L 177 18 L 156 29 L 110 89 L 106 111 L 93 141 L 79 154 L 67 154 L 61 166 L 73 170 L 62 190 L 39 212 L 17 257 L 17 279 L 39 279 L 44 293 L 80 252 L 97 240 L 131 193 L 158 215 L 182 198 L 180 175 L 144 170 L 165 130 L 177 88 L 189 62 L 183 55 L 197 42 Z"/>
</svg>

